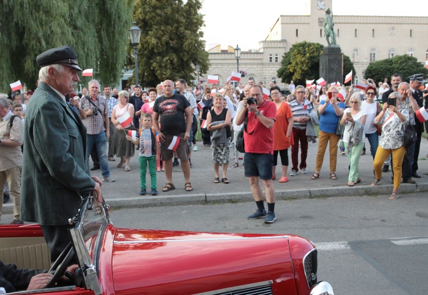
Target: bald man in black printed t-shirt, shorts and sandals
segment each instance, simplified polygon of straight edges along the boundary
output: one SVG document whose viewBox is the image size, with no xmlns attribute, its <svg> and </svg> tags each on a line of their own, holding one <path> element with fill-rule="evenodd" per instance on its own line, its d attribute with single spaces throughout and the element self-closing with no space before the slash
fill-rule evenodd
<svg viewBox="0 0 428 295">
<path fill-rule="evenodd" d="M 172 158 L 174 153 L 168 147 L 174 140 L 174 136 L 177 136 L 179 143 L 175 151 L 181 161 L 184 187 L 186 192 L 191 192 L 193 188 L 190 184 L 190 164 L 187 156 L 189 154 L 189 146 L 187 145 L 187 140 L 190 137 L 190 128 L 192 126 L 192 110 L 186 97 L 181 94 L 174 94 L 174 83 L 171 80 L 165 80 L 162 88 L 164 95 L 157 98 L 153 106 L 153 127 L 159 133 L 161 160 L 165 161 L 167 183 L 162 188 L 162 191 L 168 192 L 175 189 L 172 183 Z"/>
</svg>

